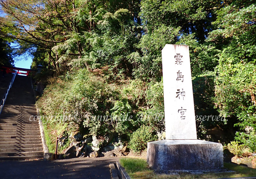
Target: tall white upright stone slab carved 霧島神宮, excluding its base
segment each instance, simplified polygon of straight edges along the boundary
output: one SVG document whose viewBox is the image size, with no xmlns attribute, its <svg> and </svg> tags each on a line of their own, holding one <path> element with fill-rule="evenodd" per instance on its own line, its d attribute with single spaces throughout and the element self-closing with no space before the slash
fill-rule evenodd
<svg viewBox="0 0 256 179">
<path fill-rule="evenodd" d="M 166 44 L 162 63 L 166 139 L 197 139 L 188 46 Z"/>
</svg>

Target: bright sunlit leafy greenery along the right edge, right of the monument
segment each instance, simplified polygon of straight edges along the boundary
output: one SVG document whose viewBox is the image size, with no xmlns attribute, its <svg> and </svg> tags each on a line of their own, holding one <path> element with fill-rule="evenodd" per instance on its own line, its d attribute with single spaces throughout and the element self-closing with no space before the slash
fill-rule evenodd
<svg viewBox="0 0 256 179">
<path fill-rule="evenodd" d="M 239 1 L 238 1 L 239 2 Z M 255 128 L 256 122 L 256 38 L 252 35 L 255 27 L 255 4 L 240 7 L 232 4 L 218 12 L 213 23 L 219 29 L 210 33 L 209 41 L 222 42 L 219 54 L 218 73 L 215 78 L 215 105 L 220 113 L 236 116 L 235 124 L 241 131 L 236 133 L 236 140 L 250 146 L 255 151 L 254 129 L 244 133 L 246 127 Z M 253 142 L 254 141 L 254 142 Z"/>
</svg>

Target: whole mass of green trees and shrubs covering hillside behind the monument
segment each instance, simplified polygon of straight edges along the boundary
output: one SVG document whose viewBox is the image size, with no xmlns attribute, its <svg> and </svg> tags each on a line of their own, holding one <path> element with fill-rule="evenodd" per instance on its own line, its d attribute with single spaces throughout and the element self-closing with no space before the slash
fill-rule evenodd
<svg viewBox="0 0 256 179">
<path fill-rule="evenodd" d="M 55 76 L 39 100 L 44 114 L 58 116 L 52 124 L 68 116 L 67 131 L 118 132 L 143 150 L 154 137 L 141 147 L 134 139 L 141 128 L 164 131 L 161 50 L 188 45 L 196 115 L 228 118 L 197 121 L 198 137 L 211 140 L 208 129 L 235 124 L 228 133 L 255 152 L 254 1 L 10 2 L 0 2 L 1 36 L 20 43 L 17 53 L 34 51 L 32 67 L 45 68 L 38 81 Z"/>
</svg>

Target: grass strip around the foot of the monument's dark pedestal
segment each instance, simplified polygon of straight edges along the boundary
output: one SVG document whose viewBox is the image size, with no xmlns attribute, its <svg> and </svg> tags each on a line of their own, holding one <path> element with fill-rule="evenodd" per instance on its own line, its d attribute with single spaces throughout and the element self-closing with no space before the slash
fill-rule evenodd
<svg viewBox="0 0 256 179">
<path fill-rule="evenodd" d="M 224 163 L 224 167 L 235 172 L 232 173 L 208 173 L 200 175 L 164 175 L 155 174 L 150 170 L 146 160 L 138 158 L 121 158 L 120 164 L 132 179 L 195 179 L 195 178 L 236 178 L 256 176 L 256 169 Z"/>
</svg>

